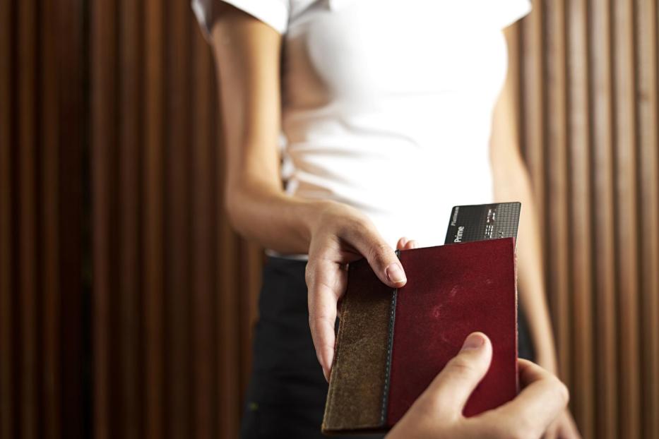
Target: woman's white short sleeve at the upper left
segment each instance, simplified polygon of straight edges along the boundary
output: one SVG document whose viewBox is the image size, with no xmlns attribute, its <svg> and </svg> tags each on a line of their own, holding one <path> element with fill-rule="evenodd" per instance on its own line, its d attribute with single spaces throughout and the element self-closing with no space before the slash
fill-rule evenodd
<svg viewBox="0 0 659 439">
<path fill-rule="evenodd" d="M 192 0 L 192 11 L 199 22 L 206 40 L 210 42 L 210 23 L 213 11 L 213 1 L 220 0 Z M 288 27 L 290 14 L 289 0 L 222 0 L 241 11 L 269 25 L 283 34 Z"/>
</svg>

